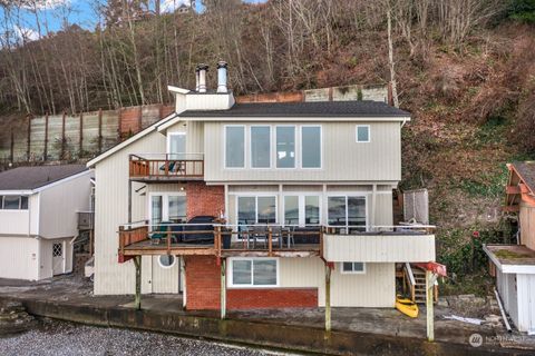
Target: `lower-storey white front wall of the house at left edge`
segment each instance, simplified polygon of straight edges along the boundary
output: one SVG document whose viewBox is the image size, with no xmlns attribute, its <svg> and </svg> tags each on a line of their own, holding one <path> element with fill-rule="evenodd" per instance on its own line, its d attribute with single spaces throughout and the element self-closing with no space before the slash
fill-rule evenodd
<svg viewBox="0 0 535 356">
<path fill-rule="evenodd" d="M 39 240 L 33 237 L 0 237 L 0 278 L 37 280 Z"/>
</svg>

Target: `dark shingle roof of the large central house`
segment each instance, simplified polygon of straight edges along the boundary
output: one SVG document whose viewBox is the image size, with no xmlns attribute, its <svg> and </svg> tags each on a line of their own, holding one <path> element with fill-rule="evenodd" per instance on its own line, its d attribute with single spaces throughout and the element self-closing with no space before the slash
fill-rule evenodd
<svg viewBox="0 0 535 356">
<path fill-rule="evenodd" d="M 228 110 L 186 110 L 181 117 L 358 117 L 408 118 L 410 113 L 381 101 L 305 101 L 235 103 Z"/>
</svg>

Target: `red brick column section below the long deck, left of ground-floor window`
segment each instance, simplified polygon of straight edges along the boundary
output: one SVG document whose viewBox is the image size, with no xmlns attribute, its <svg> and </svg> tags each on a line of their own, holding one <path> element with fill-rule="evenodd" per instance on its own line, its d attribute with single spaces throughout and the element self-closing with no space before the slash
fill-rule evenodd
<svg viewBox="0 0 535 356">
<path fill-rule="evenodd" d="M 221 267 L 215 256 L 184 256 L 186 309 L 220 309 Z"/>
</svg>

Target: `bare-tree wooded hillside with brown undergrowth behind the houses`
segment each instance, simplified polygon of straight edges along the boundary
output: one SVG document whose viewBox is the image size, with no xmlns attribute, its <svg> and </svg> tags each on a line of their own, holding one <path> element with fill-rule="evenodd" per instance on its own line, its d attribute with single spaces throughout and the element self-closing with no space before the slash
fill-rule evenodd
<svg viewBox="0 0 535 356">
<path fill-rule="evenodd" d="M 393 79 L 412 115 L 401 188 L 429 189 L 450 283 L 485 286 L 475 244 L 510 236 L 505 164 L 535 157 L 535 0 L 203 0 L 201 13 L 94 0 L 95 28 L 56 32 L 38 2 L 0 0 L 6 115 L 169 102 L 167 86 L 193 88 L 200 62 L 214 88 L 218 60 L 239 95 Z M 22 8 L 37 36 L 13 30 Z"/>
</svg>

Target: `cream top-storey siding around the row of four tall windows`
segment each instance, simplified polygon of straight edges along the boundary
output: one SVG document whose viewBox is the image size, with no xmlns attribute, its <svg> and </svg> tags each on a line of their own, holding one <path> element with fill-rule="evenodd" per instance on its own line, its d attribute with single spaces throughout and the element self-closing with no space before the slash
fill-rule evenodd
<svg viewBox="0 0 535 356">
<path fill-rule="evenodd" d="M 363 122 L 371 127 L 371 141 L 367 144 L 356 142 L 356 122 L 314 122 L 314 125 L 322 125 L 322 169 L 225 169 L 224 127 L 231 123 L 241 125 L 241 122 L 205 122 L 205 137 L 208 138 L 204 142 L 207 181 L 398 181 L 401 179 L 399 122 Z M 288 123 L 291 122 L 284 122 L 284 125 Z M 244 125 L 245 132 L 249 132 L 250 123 Z M 246 141 L 249 142 L 249 139 Z M 299 161 L 299 135 L 296 150 Z M 245 162 L 249 164 L 247 147 Z"/>
</svg>

